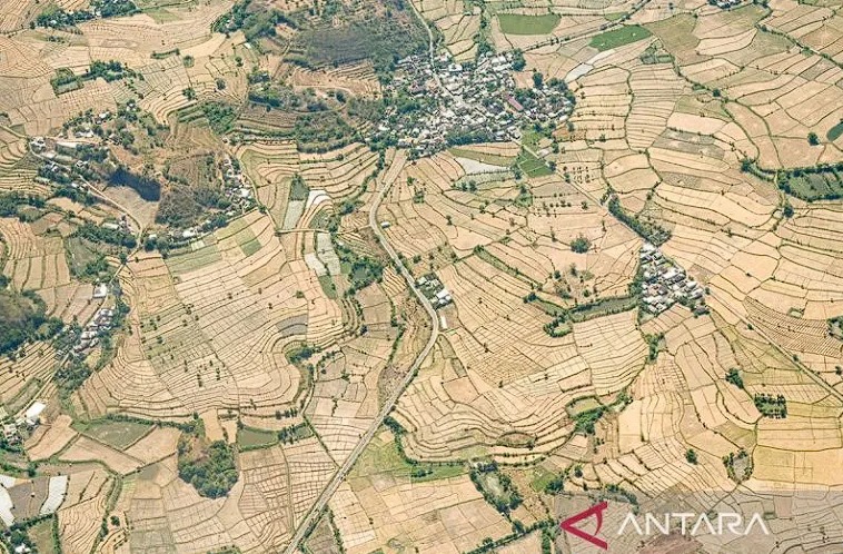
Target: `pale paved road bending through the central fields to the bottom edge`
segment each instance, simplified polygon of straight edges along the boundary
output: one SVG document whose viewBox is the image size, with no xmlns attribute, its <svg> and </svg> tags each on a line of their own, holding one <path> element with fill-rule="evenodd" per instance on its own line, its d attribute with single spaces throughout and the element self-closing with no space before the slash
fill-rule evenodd
<svg viewBox="0 0 843 554">
<path fill-rule="evenodd" d="M 337 488 L 339 488 L 339 485 L 343 483 L 343 479 L 346 478 L 346 475 L 348 475 L 348 472 L 351 471 L 351 467 L 354 466 L 355 462 L 357 462 L 357 458 L 360 457 L 360 454 L 363 454 L 363 451 L 366 449 L 366 446 L 371 442 L 371 439 L 375 437 L 375 433 L 378 431 L 380 425 L 384 423 L 384 419 L 387 415 L 389 415 L 389 412 L 391 412 L 393 407 L 398 402 L 398 398 L 404 393 L 404 390 L 407 388 L 409 383 L 413 380 L 413 377 L 416 374 L 416 370 L 419 368 L 422 363 L 425 360 L 428 354 L 430 354 L 430 350 L 433 349 L 434 345 L 436 344 L 436 339 L 439 336 L 439 316 L 436 314 L 436 310 L 434 309 L 430 301 L 425 297 L 425 295 L 422 294 L 422 291 L 416 288 L 416 279 L 413 278 L 410 273 L 407 270 L 406 267 L 404 267 L 404 264 L 401 264 L 401 260 L 398 258 L 398 254 L 395 251 L 395 249 L 389 245 L 386 237 L 384 236 L 384 231 L 380 228 L 380 224 L 377 220 L 377 211 L 380 207 L 380 202 L 384 201 L 384 197 L 389 191 L 389 189 L 393 186 L 394 179 L 385 182 L 384 187 L 378 191 L 377 196 L 375 197 L 375 200 L 371 205 L 371 209 L 369 210 L 369 227 L 371 228 L 373 233 L 375 233 L 375 236 L 378 237 L 378 240 L 380 240 L 380 245 L 384 247 L 386 253 L 389 255 L 389 257 L 395 263 L 396 267 L 400 271 L 404 279 L 407 281 L 407 286 L 413 290 L 413 293 L 416 295 L 418 300 L 422 303 L 422 306 L 425 307 L 425 310 L 427 311 L 427 315 L 430 316 L 430 338 L 427 340 L 427 344 L 422 349 L 422 352 L 416 356 L 416 359 L 413 362 L 413 365 L 407 370 L 407 374 L 404 376 L 404 379 L 401 379 L 400 384 L 393 390 L 393 393 L 389 395 L 389 397 L 384 403 L 384 406 L 380 408 L 380 412 L 378 412 L 377 416 L 375 416 L 375 419 L 369 425 L 369 428 L 366 429 L 366 433 L 363 434 L 360 437 L 360 441 L 357 443 L 357 445 L 354 447 L 351 453 L 348 455 L 348 457 L 343 462 L 343 465 L 339 466 L 339 469 L 337 469 L 337 473 L 334 474 L 334 477 L 331 477 L 330 482 L 325 486 L 321 494 L 319 495 L 319 498 L 316 501 L 316 504 L 310 508 L 310 512 L 305 516 L 304 520 L 301 520 L 301 523 L 298 524 L 298 528 L 296 530 L 296 533 L 292 535 L 292 540 L 287 545 L 287 548 L 284 551 L 286 554 L 292 554 L 296 552 L 296 548 L 298 547 L 298 544 L 305 538 L 305 533 L 307 533 L 307 530 L 310 527 L 313 523 L 315 523 L 319 515 L 321 514 L 321 511 L 325 506 L 327 506 L 328 501 L 330 501 L 331 496 L 334 496 L 334 493 L 337 492 Z"/>
</svg>

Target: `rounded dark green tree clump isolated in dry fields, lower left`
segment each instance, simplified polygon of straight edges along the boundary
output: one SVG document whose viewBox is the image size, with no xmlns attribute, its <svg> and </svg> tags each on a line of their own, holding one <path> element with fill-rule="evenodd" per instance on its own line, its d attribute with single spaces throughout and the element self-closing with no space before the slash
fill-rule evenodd
<svg viewBox="0 0 843 554">
<path fill-rule="evenodd" d="M 201 496 L 226 496 L 237 483 L 235 451 L 225 441 L 209 443 L 205 437 L 182 434 L 178 458 L 179 477 Z"/>
</svg>

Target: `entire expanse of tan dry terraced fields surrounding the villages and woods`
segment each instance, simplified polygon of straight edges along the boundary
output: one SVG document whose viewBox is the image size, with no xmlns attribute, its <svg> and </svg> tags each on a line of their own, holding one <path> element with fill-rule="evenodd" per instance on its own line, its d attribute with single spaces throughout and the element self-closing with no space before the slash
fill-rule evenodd
<svg viewBox="0 0 843 554">
<path fill-rule="evenodd" d="M 569 125 L 549 128 L 535 148 L 549 175 L 516 178 L 516 141 L 410 159 L 394 148 L 379 156 L 360 137 L 299 151 L 289 136 L 220 137 L 186 121 L 204 101 L 244 105 L 254 69 L 299 91 L 384 92 L 369 62 L 304 68 L 284 52 L 261 53 L 240 31 L 211 32 L 230 1 L 145 9 L 75 32 L 30 29 L 37 2 L 0 2 L 0 191 L 52 196 L 33 221 L 0 218 L 0 274 L 10 287 L 33 290 L 67 324 L 85 324 L 111 304 L 92 300 L 90 279 L 73 275 L 76 229 L 125 214 L 138 230 L 167 231 L 155 220 L 158 205 L 128 189 L 103 188 L 110 202 L 87 206 L 36 180 L 28 140 L 57 136 L 85 110 L 136 100 L 168 129 L 163 147 L 123 149 L 117 159 L 160 172 L 165 158 L 219 151 L 240 164 L 259 202 L 166 257 L 131 253 L 115 277 L 131 309 L 113 356 L 71 394 L 52 378 L 63 363 L 58 344 L 34 342 L 0 359 L 9 415 L 36 399 L 49 405 L 26 455 L 11 459 L 24 482 L 30 461 L 39 477 L 69 476 L 54 527 L 63 552 L 288 546 L 430 335 L 427 313 L 368 229 L 387 187 L 375 215 L 389 222 L 386 240 L 413 277 L 435 274 L 453 303 L 437 310 L 438 339 L 389 414 L 404 433 L 378 427 L 308 538 L 315 552 L 457 554 L 488 537 L 502 541 L 496 552 L 538 553 L 540 531 L 512 533 L 516 521 L 555 527 L 562 501 L 544 488 L 555 476 L 569 493 L 619 486 L 643 506 L 683 492 L 761 504 L 771 491 L 843 486 L 843 335 L 830 323 L 843 316 L 843 208 L 837 198 L 800 199 L 772 177 L 843 161 L 843 138 L 834 138 L 843 120 L 839 2 L 414 6 L 456 61 L 474 59 L 480 33 L 498 51 L 525 51 L 518 87 L 533 86 L 533 70 L 566 80 L 576 97 Z M 502 14 L 558 22 L 547 34 L 504 33 Z M 652 34 L 593 46 L 627 23 Z M 279 27 L 277 44 L 296 32 Z M 80 75 L 108 59 L 143 79 L 53 92 L 57 69 Z M 305 200 L 290 198 L 297 174 Z M 609 198 L 641 233 L 609 211 Z M 661 251 L 704 288 L 705 313 L 675 305 L 643 316 L 627 298 L 648 226 L 670 231 Z M 584 253 L 572 249 L 578 237 L 588 241 Z M 359 266 L 340 263 L 346 248 L 383 267 L 355 294 L 347 293 Z M 563 313 L 568 319 L 555 321 Z M 309 356 L 292 359 L 303 346 Z M 754 399 L 762 394 L 781 395 L 787 416 L 770 417 Z M 593 431 L 585 428 L 583 410 L 597 407 Z M 209 439 L 236 451 L 238 481 L 222 498 L 202 497 L 178 476 L 182 432 L 171 425 L 195 414 Z M 112 416 L 166 425 L 123 449 L 71 426 Z M 297 435 L 245 445 L 238 426 Z M 746 475 L 723 462 L 738 453 Z M 510 478 L 517 508 L 502 513 L 484 499 L 469 477 L 477 461 L 496 462 Z M 810 511 L 770 506 L 776 536 L 752 550 L 820 546 L 824 537 L 795 528 Z M 741 540 L 734 547 L 751 548 Z"/>
</svg>

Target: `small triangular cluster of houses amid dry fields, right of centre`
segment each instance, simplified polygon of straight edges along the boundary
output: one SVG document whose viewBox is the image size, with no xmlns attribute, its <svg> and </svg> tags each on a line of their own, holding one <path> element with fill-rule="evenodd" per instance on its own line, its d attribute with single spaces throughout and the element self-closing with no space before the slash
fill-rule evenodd
<svg viewBox="0 0 843 554">
<path fill-rule="evenodd" d="M 644 277 L 642 304 L 646 311 L 661 314 L 676 303 L 694 309 L 703 303 L 705 293 L 700 284 L 665 258 L 658 248 L 645 243 L 639 258 Z"/>
</svg>

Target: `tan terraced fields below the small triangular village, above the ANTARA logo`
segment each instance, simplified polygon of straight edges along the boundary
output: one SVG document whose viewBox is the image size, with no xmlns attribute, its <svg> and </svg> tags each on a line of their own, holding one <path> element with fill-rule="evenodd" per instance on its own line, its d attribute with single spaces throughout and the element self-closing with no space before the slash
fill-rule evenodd
<svg viewBox="0 0 843 554">
<path fill-rule="evenodd" d="M 621 483 L 642 503 L 671 489 L 732 489 L 721 458 L 740 448 L 754 458 L 751 489 L 839 481 L 815 466 L 814 459 L 820 461 L 820 451 L 840 448 L 843 406 L 762 337 L 718 317 L 690 317 L 678 307 L 648 321 L 643 330 L 666 333 L 666 352 L 635 378 L 633 402 L 616 419 L 599 422 L 597 437 L 603 443 L 596 452 L 585 448 L 584 442 L 572 442 L 544 467 L 558 471 L 585 461 L 583 477 L 571 479 L 574 487 Z M 730 367 L 741 368 L 746 390 L 723 379 Z M 758 392 L 783 394 L 787 418 L 762 417 L 752 402 Z M 697 465 L 684 461 L 688 447 L 696 451 Z M 811 467 L 794 473 L 791 465 L 783 473 L 778 463 L 797 451 L 810 451 Z"/>
</svg>

